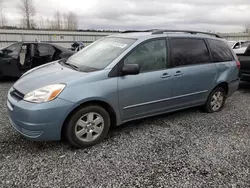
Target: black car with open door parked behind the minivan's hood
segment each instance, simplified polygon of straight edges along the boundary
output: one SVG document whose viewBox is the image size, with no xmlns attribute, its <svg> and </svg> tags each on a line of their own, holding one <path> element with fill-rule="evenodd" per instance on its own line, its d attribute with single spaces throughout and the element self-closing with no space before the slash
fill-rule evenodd
<svg viewBox="0 0 250 188">
<path fill-rule="evenodd" d="M 0 50 L 0 77 L 20 77 L 26 71 L 51 61 L 68 58 L 74 52 L 42 42 L 17 42 Z"/>
</svg>

